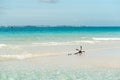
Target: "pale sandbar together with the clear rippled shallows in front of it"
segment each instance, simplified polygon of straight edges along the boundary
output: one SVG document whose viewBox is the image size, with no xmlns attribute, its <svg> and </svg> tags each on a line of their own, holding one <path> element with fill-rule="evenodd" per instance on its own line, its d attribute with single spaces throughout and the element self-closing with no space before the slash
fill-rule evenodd
<svg viewBox="0 0 120 80">
<path fill-rule="evenodd" d="M 40 46 L 43 52 L 46 51 L 44 55 L 38 50 L 38 53 L 32 51 L 34 54 L 31 55 L 0 56 L 0 78 L 3 80 L 119 80 L 119 44 L 119 41 L 81 44 L 85 50 L 81 56 L 68 55 L 76 52 L 75 49 L 79 48 L 79 45 L 50 46 L 47 47 L 47 51 L 45 47 Z M 51 54 L 52 52 L 54 53 Z"/>
</svg>

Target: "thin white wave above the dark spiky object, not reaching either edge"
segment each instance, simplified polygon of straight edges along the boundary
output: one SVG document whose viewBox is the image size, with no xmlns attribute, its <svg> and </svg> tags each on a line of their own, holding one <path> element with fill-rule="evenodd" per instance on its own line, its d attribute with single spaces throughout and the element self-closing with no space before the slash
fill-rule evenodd
<svg viewBox="0 0 120 80">
<path fill-rule="evenodd" d="M 94 44 L 95 41 L 44 42 L 44 43 L 33 43 L 33 44 L 40 46 L 63 46 L 63 45 L 79 45 L 81 43 Z"/>
</svg>

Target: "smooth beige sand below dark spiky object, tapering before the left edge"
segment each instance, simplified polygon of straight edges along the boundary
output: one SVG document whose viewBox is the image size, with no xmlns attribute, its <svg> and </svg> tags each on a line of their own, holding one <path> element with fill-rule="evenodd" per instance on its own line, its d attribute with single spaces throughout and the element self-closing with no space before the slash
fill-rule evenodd
<svg viewBox="0 0 120 80">
<path fill-rule="evenodd" d="M 48 56 L 27 60 L 31 64 L 55 67 L 120 68 L 120 56 Z"/>
</svg>

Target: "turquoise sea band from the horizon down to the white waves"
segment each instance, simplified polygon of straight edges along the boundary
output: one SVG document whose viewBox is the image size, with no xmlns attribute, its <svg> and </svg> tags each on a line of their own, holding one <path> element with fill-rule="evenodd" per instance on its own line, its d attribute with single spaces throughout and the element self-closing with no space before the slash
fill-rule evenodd
<svg viewBox="0 0 120 80">
<path fill-rule="evenodd" d="M 119 38 L 120 27 L 1 27 L 0 44 Z"/>
</svg>

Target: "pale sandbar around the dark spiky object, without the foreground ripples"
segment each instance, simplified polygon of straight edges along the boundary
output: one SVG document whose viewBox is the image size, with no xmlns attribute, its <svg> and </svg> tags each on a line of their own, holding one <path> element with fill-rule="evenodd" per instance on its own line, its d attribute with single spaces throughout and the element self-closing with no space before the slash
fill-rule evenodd
<svg viewBox="0 0 120 80">
<path fill-rule="evenodd" d="M 120 41 L 104 41 L 104 43 L 95 43 L 95 44 L 82 44 L 85 54 L 82 56 L 79 55 L 70 55 L 68 53 L 74 53 L 77 47 L 74 46 L 57 46 L 52 47 L 55 50 L 55 53 L 58 51 L 61 53 L 56 54 L 37 54 L 37 51 L 34 55 L 29 55 L 27 58 L 16 58 L 13 57 L 1 57 L 0 65 L 4 68 L 4 65 L 9 66 L 26 66 L 26 67 L 41 67 L 41 66 L 51 66 L 52 67 L 107 67 L 107 68 L 120 68 Z M 78 46 L 79 47 L 79 46 Z M 54 49 L 55 48 L 55 49 Z M 42 48 L 43 49 L 43 48 Z M 72 50 L 71 50 L 72 49 Z M 53 51 L 52 50 L 52 51 Z M 49 51 L 49 48 L 48 48 Z M 47 52 L 48 52 L 47 51 Z M 63 52 L 63 53 L 62 53 Z M 49 53 L 49 52 L 48 52 Z M 32 57 L 31 57 L 32 56 Z M 17 55 L 17 57 L 19 57 Z M 29 65 L 29 66 L 28 66 Z"/>
</svg>

